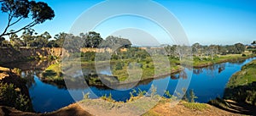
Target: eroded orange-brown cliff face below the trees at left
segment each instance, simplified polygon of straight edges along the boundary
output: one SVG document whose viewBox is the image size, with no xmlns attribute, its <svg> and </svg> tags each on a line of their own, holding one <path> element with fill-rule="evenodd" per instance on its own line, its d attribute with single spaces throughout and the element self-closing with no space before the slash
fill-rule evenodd
<svg viewBox="0 0 256 116">
<path fill-rule="evenodd" d="M 26 61 L 30 58 L 47 58 L 55 56 L 60 58 L 62 48 L 1 48 L 0 63 Z"/>
</svg>

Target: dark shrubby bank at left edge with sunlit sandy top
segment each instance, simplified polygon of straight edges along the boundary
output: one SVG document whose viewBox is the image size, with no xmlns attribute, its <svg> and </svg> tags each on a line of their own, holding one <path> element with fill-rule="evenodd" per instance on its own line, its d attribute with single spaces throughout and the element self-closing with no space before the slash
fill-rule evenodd
<svg viewBox="0 0 256 116">
<path fill-rule="evenodd" d="M 0 106 L 9 106 L 32 112 L 32 100 L 26 80 L 20 78 L 19 69 L 0 67 Z"/>
</svg>

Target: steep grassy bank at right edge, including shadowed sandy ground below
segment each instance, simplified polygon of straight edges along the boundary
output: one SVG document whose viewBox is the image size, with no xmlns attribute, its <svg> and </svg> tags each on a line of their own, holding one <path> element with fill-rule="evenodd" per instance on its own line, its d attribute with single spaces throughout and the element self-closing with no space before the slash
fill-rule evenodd
<svg viewBox="0 0 256 116">
<path fill-rule="evenodd" d="M 232 113 L 256 115 L 256 60 L 230 77 L 223 98 L 209 103 Z"/>
</svg>

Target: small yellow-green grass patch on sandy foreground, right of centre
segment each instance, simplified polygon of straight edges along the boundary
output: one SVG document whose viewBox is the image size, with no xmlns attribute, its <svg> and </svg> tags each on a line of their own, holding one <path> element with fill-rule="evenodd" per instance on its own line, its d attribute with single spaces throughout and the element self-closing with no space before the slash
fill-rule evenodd
<svg viewBox="0 0 256 116">
<path fill-rule="evenodd" d="M 207 104 L 198 103 L 198 102 L 184 102 L 183 106 L 186 108 L 194 109 L 194 110 L 205 110 L 207 109 Z"/>
</svg>

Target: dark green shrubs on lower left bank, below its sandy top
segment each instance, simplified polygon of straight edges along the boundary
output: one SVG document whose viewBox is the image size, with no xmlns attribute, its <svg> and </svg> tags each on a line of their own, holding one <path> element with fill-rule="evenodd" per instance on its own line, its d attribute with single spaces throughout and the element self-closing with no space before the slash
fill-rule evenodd
<svg viewBox="0 0 256 116">
<path fill-rule="evenodd" d="M 32 111 L 30 100 L 20 93 L 20 88 L 15 88 L 13 84 L 0 83 L 1 105 L 17 108 L 21 111 Z"/>
</svg>

